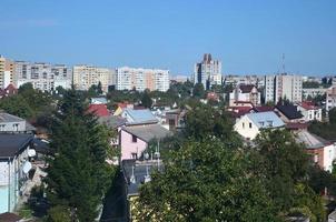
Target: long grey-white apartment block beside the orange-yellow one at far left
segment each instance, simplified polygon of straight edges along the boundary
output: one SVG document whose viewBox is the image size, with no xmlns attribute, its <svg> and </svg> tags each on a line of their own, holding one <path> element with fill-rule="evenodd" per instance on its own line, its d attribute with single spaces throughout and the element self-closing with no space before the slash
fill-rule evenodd
<svg viewBox="0 0 336 222">
<path fill-rule="evenodd" d="M 71 69 L 63 64 L 16 61 L 17 87 L 31 83 L 33 89 L 53 91 L 58 87 L 71 88 Z"/>
</svg>

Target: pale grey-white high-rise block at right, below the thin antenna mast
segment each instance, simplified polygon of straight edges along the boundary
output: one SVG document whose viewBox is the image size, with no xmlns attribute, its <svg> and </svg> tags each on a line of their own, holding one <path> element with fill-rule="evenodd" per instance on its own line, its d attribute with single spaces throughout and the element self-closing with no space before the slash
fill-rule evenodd
<svg viewBox="0 0 336 222">
<path fill-rule="evenodd" d="M 277 74 L 265 77 L 265 102 L 277 103 L 280 99 L 290 102 L 303 100 L 303 78 L 294 74 Z"/>
</svg>

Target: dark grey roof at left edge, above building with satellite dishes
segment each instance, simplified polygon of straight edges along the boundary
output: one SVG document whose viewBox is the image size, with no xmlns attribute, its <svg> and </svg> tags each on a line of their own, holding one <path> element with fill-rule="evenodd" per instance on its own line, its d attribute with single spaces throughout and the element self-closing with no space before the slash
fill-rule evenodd
<svg viewBox="0 0 336 222">
<path fill-rule="evenodd" d="M 32 141 L 32 134 L 0 134 L 0 159 L 13 158 Z"/>
</svg>

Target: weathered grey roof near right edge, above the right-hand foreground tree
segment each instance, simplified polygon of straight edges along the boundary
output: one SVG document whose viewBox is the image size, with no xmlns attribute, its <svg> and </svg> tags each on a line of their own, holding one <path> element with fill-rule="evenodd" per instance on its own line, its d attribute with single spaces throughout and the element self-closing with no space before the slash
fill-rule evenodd
<svg viewBox="0 0 336 222">
<path fill-rule="evenodd" d="M 317 149 L 317 148 L 323 148 L 325 145 L 330 144 L 329 141 L 327 141 L 323 138 L 319 138 L 306 130 L 299 131 L 297 133 L 297 137 L 295 137 L 295 138 L 298 142 L 304 143 L 307 149 Z"/>
</svg>

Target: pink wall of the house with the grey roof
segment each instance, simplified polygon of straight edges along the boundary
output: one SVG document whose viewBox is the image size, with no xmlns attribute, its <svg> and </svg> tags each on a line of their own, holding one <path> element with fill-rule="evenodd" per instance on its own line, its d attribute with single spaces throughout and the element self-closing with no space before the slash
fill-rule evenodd
<svg viewBox="0 0 336 222">
<path fill-rule="evenodd" d="M 123 130 L 120 131 L 120 148 L 121 160 L 132 159 L 132 153 L 137 153 L 138 158 L 147 148 L 147 142 L 137 139 L 137 142 L 132 142 L 132 135 Z"/>
</svg>

